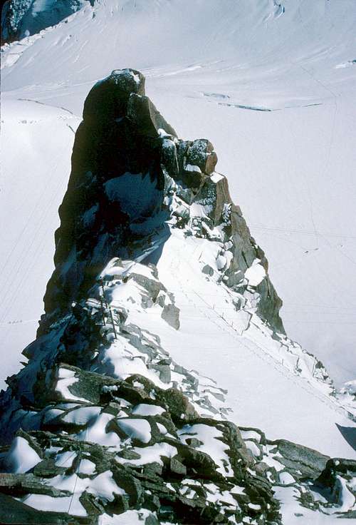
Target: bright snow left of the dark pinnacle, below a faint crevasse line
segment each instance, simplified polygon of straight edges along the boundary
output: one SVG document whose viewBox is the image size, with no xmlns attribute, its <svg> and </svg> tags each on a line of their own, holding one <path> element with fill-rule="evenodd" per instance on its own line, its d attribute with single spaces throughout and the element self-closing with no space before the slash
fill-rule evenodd
<svg viewBox="0 0 356 525">
<path fill-rule="evenodd" d="M 1 224 L 6 228 L 1 230 L 0 333 L 8 356 L 1 368 L 4 384 L 7 375 L 19 369 L 21 347 L 36 333 L 43 280 L 53 264 L 58 199 L 66 190 L 80 121 L 66 110 L 33 101 L 9 101 L 1 109 Z"/>
</svg>

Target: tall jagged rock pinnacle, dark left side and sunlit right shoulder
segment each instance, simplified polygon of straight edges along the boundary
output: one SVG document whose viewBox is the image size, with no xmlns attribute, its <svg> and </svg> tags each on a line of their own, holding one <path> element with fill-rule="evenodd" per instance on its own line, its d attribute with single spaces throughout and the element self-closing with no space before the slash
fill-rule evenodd
<svg viewBox="0 0 356 525">
<path fill-rule="evenodd" d="M 166 222 L 175 218 L 173 227 L 199 237 L 209 238 L 209 231 L 219 228 L 219 240 L 228 246 L 221 254 L 221 280 L 240 293 L 249 287 L 259 315 L 283 333 L 282 302 L 267 260 L 232 203 L 226 178 L 214 172 L 216 162 L 208 140 L 177 138 L 145 96 L 142 73 L 112 71 L 98 82 L 85 100 L 75 136 L 41 330 L 85 297 L 110 259 L 137 258 L 155 239 L 169 235 Z M 244 275 L 254 264 L 263 278 L 248 282 Z"/>
</svg>

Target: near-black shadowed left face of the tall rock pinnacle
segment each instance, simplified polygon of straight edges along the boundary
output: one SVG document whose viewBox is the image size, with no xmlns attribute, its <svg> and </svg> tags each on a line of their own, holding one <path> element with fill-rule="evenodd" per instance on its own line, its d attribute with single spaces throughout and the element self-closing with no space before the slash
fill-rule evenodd
<svg viewBox="0 0 356 525">
<path fill-rule="evenodd" d="M 59 210 L 56 270 L 48 282 L 41 332 L 54 315 L 83 297 L 105 263 L 114 256 L 127 258 L 135 241 L 148 243 L 155 230 L 164 228 L 157 127 L 167 123 L 144 93 L 142 73 L 125 69 L 112 71 L 85 101 Z"/>
</svg>

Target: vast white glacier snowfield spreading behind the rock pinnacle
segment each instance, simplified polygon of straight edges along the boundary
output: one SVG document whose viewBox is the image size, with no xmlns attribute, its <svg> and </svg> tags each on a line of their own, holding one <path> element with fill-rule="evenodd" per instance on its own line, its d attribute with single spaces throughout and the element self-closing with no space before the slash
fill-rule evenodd
<svg viewBox="0 0 356 525">
<path fill-rule="evenodd" d="M 73 144 L 67 124 L 78 126 L 98 78 L 131 66 L 145 73 L 147 93 L 179 135 L 213 141 L 219 170 L 268 255 L 288 335 L 338 382 L 355 377 L 356 6 L 280 4 L 98 1 L 4 47 L 1 245 L 9 259 L 1 290 L 12 287 L 1 302 L 5 376 L 42 311 Z"/>
</svg>

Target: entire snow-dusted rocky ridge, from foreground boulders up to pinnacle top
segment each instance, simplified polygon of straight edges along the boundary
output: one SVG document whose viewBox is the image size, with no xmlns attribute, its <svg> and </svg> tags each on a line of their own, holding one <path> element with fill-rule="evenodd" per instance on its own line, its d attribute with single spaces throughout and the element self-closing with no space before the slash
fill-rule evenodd
<svg viewBox="0 0 356 525">
<path fill-rule="evenodd" d="M 231 294 L 241 333 L 263 320 L 293 371 L 329 388 L 283 333 L 266 258 L 216 161 L 206 139 L 177 138 L 138 71 L 113 71 L 90 91 L 46 313 L 1 392 L 1 522 L 276 525 L 286 486 L 304 509 L 353 516 L 355 462 L 239 429 L 226 391 L 140 325 L 152 315 L 152 326 L 179 330 L 156 265 L 179 231 L 209 248 L 204 279 Z"/>
</svg>

